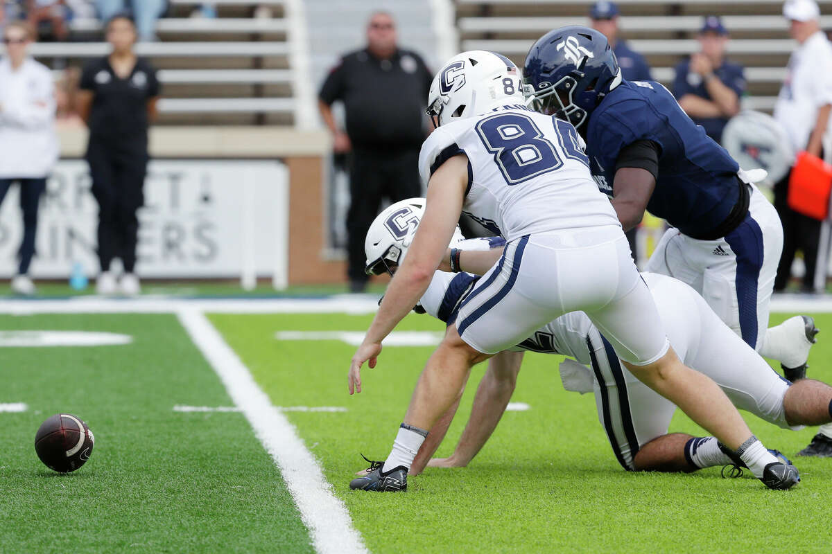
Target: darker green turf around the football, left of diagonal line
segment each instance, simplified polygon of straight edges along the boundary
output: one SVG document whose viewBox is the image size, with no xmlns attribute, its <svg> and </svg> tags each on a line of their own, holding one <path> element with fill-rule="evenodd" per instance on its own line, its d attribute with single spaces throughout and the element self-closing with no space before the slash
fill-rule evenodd
<svg viewBox="0 0 832 554">
<path fill-rule="evenodd" d="M 0 552 L 312 552 L 280 472 L 176 316 L 0 316 L 2 330 L 111 331 L 125 346 L 0 348 Z M 34 437 L 57 412 L 96 436 L 61 475 Z"/>
</svg>

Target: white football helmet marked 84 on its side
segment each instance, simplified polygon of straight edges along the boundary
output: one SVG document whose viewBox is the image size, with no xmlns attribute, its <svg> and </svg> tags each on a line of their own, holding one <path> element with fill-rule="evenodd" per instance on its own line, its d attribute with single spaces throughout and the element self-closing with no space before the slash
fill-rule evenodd
<svg viewBox="0 0 832 554">
<path fill-rule="evenodd" d="M 453 56 L 433 77 L 428 110 L 433 126 L 482 115 L 497 105 L 525 105 L 522 74 L 506 56 L 471 50 Z"/>
</svg>

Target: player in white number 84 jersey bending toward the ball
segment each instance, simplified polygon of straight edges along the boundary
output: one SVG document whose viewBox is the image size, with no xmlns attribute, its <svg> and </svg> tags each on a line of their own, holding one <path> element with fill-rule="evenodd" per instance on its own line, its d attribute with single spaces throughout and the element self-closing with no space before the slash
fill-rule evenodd
<svg viewBox="0 0 832 554">
<path fill-rule="evenodd" d="M 498 229 L 507 246 L 428 360 L 390 455 L 350 487 L 404 490 L 426 429 L 453 403 L 471 367 L 577 310 L 633 375 L 735 450 L 767 487 L 794 486 L 797 469 L 765 449 L 716 383 L 670 348 L 574 127 L 527 110 L 524 101 L 517 67 L 493 52 L 454 56 L 433 79 L 428 112 L 438 128 L 419 159 L 428 181 L 425 213 L 351 360 L 350 394 L 361 390 L 361 366 L 376 365 L 384 337 L 428 288 L 463 211 Z M 395 219 L 391 229 L 406 232 Z"/>
</svg>

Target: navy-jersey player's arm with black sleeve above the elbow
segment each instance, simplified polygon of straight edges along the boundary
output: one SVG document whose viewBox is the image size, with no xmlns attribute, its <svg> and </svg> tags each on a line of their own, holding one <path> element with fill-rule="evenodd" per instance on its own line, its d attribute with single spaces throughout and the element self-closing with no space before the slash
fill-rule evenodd
<svg viewBox="0 0 832 554">
<path fill-rule="evenodd" d="M 612 183 L 612 207 L 625 231 L 641 223 L 659 174 L 659 146 L 636 140 L 618 154 Z"/>
</svg>

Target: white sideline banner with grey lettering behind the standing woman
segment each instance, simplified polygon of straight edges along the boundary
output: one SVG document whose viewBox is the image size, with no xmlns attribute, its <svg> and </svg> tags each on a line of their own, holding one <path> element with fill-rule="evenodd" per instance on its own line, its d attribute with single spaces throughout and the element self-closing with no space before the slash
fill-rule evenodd
<svg viewBox="0 0 832 554">
<path fill-rule="evenodd" d="M 98 206 L 87 163 L 58 162 L 41 199 L 33 278 L 65 278 L 75 263 L 98 272 Z M 140 277 L 288 275 L 289 171 L 271 160 L 154 159 L 139 210 Z M 17 186 L 0 206 L 0 277 L 17 270 Z"/>
</svg>

